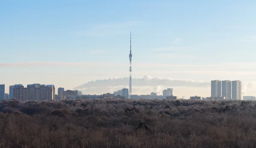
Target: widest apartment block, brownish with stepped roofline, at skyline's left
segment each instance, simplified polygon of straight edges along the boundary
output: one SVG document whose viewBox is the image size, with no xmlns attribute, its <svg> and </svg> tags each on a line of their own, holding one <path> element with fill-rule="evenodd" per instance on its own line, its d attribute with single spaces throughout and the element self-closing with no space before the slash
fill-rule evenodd
<svg viewBox="0 0 256 148">
<path fill-rule="evenodd" d="M 43 101 L 55 99 L 54 85 L 29 84 L 24 88 L 21 84 L 14 85 L 13 98 L 20 101 Z"/>
</svg>

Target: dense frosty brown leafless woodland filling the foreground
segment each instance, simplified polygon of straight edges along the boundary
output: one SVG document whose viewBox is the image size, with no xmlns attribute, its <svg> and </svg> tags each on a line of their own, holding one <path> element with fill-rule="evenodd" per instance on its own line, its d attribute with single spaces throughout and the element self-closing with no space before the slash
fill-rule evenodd
<svg viewBox="0 0 256 148">
<path fill-rule="evenodd" d="M 256 102 L 0 102 L 0 148 L 255 148 Z"/>
</svg>

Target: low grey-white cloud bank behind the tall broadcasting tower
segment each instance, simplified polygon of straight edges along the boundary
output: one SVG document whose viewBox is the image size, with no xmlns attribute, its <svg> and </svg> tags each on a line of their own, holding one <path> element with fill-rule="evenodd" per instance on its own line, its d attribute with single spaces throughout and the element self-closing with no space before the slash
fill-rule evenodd
<svg viewBox="0 0 256 148">
<path fill-rule="evenodd" d="M 129 77 L 114 77 L 105 80 L 95 80 L 80 85 L 74 89 L 83 91 L 83 94 L 103 94 L 117 91 L 121 88 L 128 88 Z M 132 78 L 133 94 L 150 94 L 154 91 L 162 94 L 163 89 L 186 87 L 186 88 L 208 88 L 209 82 L 199 82 L 194 80 L 172 80 L 169 78 L 152 78 L 145 75 L 143 78 Z"/>
</svg>

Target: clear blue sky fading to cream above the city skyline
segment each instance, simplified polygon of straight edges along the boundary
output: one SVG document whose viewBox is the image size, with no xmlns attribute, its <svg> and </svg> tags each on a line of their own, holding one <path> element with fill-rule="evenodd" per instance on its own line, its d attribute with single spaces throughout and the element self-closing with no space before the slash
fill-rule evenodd
<svg viewBox="0 0 256 148">
<path fill-rule="evenodd" d="M 0 0 L 0 7 L 7 93 L 14 84 L 67 90 L 96 80 L 85 94 L 128 88 L 113 80 L 129 77 L 131 31 L 135 83 L 168 81 L 133 85 L 133 94 L 172 87 L 178 96 L 209 97 L 210 80 L 241 80 L 243 95 L 256 95 L 255 0 Z"/>
</svg>

